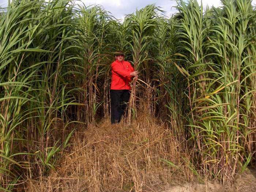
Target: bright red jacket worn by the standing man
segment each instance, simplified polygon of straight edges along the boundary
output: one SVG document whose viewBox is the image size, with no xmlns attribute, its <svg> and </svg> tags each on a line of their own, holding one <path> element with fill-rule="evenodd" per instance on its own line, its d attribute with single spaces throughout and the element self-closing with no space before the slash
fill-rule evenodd
<svg viewBox="0 0 256 192">
<path fill-rule="evenodd" d="M 115 60 L 111 64 L 111 87 L 110 89 L 114 90 L 131 90 L 131 86 L 129 85 L 131 82 L 130 73 L 134 71 L 131 63 L 128 61 L 118 61 Z"/>
</svg>

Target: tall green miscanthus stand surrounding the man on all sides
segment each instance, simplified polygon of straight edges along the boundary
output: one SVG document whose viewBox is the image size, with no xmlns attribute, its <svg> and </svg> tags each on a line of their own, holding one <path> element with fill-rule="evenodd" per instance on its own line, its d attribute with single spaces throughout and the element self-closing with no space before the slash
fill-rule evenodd
<svg viewBox="0 0 256 192">
<path fill-rule="evenodd" d="M 167 19 L 148 5 L 120 22 L 69 0 L 1 8 L 0 191 L 48 175 L 76 129 L 109 117 L 116 50 L 139 71 L 128 125 L 138 109 L 161 119 L 194 175 L 222 184 L 255 162 L 255 7 L 178 0 L 176 9 Z"/>
</svg>

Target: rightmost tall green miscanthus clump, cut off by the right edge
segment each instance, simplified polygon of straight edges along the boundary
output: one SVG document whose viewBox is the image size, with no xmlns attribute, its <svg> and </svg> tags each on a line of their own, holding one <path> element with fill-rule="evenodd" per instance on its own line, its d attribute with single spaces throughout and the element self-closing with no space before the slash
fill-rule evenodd
<svg viewBox="0 0 256 192">
<path fill-rule="evenodd" d="M 216 77 L 220 85 L 215 92 L 219 94 L 210 96 L 209 104 L 216 107 L 204 114 L 203 118 L 208 120 L 203 128 L 215 129 L 218 133 L 212 142 L 207 141 L 207 151 L 218 144 L 218 153 L 212 152 L 215 164 L 209 163 L 209 166 L 224 183 L 244 171 L 251 159 L 252 149 L 248 141 L 254 121 L 250 117 L 255 116 L 252 115 L 255 107 L 252 101 L 256 68 L 251 1 L 225 0 L 222 3 L 223 10 L 215 9 L 216 17 L 209 37 L 209 47 L 217 54 L 216 70 L 221 74 Z M 222 167 L 221 171 L 219 167 Z"/>
</svg>

